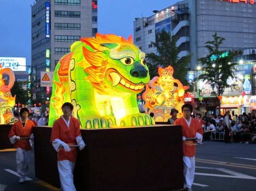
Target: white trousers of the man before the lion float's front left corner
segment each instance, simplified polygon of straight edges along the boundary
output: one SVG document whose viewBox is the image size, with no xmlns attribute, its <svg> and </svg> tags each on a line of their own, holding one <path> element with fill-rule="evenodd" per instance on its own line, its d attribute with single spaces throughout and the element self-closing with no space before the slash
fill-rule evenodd
<svg viewBox="0 0 256 191">
<path fill-rule="evenodd" d="M 73 170 L 75 165 L 76 162 L 71 162 L 69 160 L 58 161 L 61 190 L 76 191 L 73 180 Z"/>
</svg>

